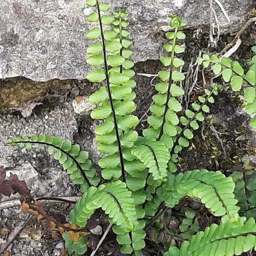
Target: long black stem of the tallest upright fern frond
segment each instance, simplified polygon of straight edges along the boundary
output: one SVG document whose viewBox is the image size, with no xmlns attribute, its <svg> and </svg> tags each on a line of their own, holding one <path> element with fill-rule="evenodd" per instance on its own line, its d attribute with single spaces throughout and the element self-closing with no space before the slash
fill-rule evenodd
<svg viewBox="0 0 256 256">
<path fill-rule="evenodd" d="M 113 118 L 114 118 L 116 139 L 117 139 L 118 151 L 119 151 L 119 157 L 120 157 L 120 163 L 121 163 L 122 181 L 125 182 L 126 178 L 125 178 L 125 170 L 124 170 L 124 164 L 123 164 L 123 153 L 122 153 L 121 141 L 120 141 L 120 138 L 119 138 L 115 108 L 114 108 L 113 99 L 112 99 L 112 95 L 111 95 L 111 91 L 110 91 L 109 68 L 108 68 L 108 62 L 106 61 L 105 39 L 104 39 L 104 34 L 103 34 L 103 27 L 102 27 L 102 22 L 101 22 L 99 1 L 98 0 L 97 0 L 97 9 L 98 9 L 98 15 L 99 15 L 99 25 L 100 25 L 100 32 L 101 32 L 102 47 L 103 47 L 104 68 L 105 68 L 105 76 L 106 76 L 106 87 L 108 89 L 111 110 L 112 110 Z"/>
</svg>

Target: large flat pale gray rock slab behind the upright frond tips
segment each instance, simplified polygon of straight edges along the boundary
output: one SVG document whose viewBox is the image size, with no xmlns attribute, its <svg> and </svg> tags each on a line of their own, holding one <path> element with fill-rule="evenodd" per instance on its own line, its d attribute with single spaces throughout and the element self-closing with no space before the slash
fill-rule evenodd
<svg viewBox="0 0 256 256">
<path fill-rule="evenodd" d="M 208 0 L 111 0 L 131 14 L 135 62 L 158 59 L 168 14 L 187 20 L 189 28 L 209 25 Z M 214 1 L 213 1 L 214 2 Z M 222 0 L 230 23 L 214 2 L 222 32 L 237 31 L 253 0 Z M 24 76 L 35 81 L 86 77 L 85 38 L 91 8 L 80 0 L 0 0 L 0 79 Z"/>
</svg>

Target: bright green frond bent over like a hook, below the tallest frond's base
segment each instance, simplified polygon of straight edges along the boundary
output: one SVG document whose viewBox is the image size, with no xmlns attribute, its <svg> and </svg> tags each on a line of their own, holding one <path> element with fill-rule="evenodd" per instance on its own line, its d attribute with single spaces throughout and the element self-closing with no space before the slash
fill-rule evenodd
<svg viewBox="0 0 256 256">
<path fill-rule="evenodd" d="M 102 208 L 109 215 L 109 221 L 123 228 L 126 232 L 134 229 L 136 210 L 131 191 L 126 184 L 118 181 L 90 187 L 77 201 L 71 212 L 70 222 L 84 227 L 94 211 Z"/>
</svg>

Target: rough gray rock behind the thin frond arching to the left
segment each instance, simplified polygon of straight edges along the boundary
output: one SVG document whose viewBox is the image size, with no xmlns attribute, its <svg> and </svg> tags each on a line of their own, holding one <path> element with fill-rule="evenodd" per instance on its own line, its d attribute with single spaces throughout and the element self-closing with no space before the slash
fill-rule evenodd
<svg viewBox="0 0 256 256">
<path fill-rule="evenodd" d="M 7 168 L 7 176 L 12 172 L 25 180 L 35 197 L 72 195 L 74 185 L 69 175 L 49 156 L 45 148 L 33 148 L 26 152 L 25 149 L 4 144 L 14 135 L 39 133 L 59 135 L 73 141 L 76 132 L 77 122 L 70 103 L 52 111 L 43 110 L 40 115 L 33 113 L 28 118 L 0 115 L 0 166 Z"/>
</svg>

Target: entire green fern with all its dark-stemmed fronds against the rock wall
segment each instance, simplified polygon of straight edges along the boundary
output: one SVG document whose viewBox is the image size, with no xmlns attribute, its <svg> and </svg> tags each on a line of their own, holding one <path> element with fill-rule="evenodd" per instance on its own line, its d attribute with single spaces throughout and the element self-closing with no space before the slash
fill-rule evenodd
<svg viewBox="0 0 256 256">
<path fill-rule="evenodd" d="M 242 205 L 239 201 L 237 206 L 238 200 L 234 197 L 237 190 L 234 191 L 231 177 L 205 169 L 175 174 L 180 152 L 189 146 L 199 122 L 204 121 L 204 113 L 210 111 L 209 104 L 214 103 L 221 89 L 220 85 L 211 84 L 191 102 L 190 109 L 180 103 L 184 94 L 180 82 L 185 79 L 181 72 L 184 61 L 180 56 L 185 51 L 181 46 L 185 33 L 180 30 L 185 22 L 169 16 L 170 31 L 166 33 L 169 43 L 164 45 L 167 56 L 161 58 L 165 68 L 158 73 L 160 82 L 155 86 L 157 94 L 153 96 L 148 126 L 139 136 L 134 131 L 139 120 L 133 115 L 136 82 L 130 49 L 133 42 L 127 38 L 130 35 L 127 12 L 115 10 L 113 15 L 106 14 L 111 6 L 99 0 L 89 0 L 87 5 L 92 10 L 88 21 L 93 25 L 87 38 L 94 40 L 87 48 L 87 63 L 94 67 L 87 79 L 102 85 L 90 96 L 90 101 L 97 105 L 91 117 L 101 120 L 95 129 L 98 151 L 104 154 L 98 163 L 102 168 L 101 179 L 88 153 L 69 140 L 33 135 L 14 137 L 8 144 L 28 150 L 32 144 L 47 146 L 83 192 L 71 211 L 70 223 L 83 228 L 95 210 L 101 208 L 113 224 L 122 253 L 143 255 L 145 225 L 151 225 L 152 219 L 158 218 L 161 205 L 173 208 L 184 197 L 199 198 L 211 215 L 221 217 L 220 225 L 212 224 L 192 237 L 189 234 L 190 241 L 183 242 L 180 248 L 172 244 L 165 255 L 238 255 L 255 247 L 254 220 L 239 217 Z M 244 93 L 248 102 L 246 109 L 249 114 L 254 113 L 254 57 L 254 64 L 246 75 L 238 62 L 216 55 L 203 55 L 198 61 L 205 68 L 210 62 L 214 63 L 214 73 L 222 73 L 224 81 L 230 81 L 235 91 L 241 90 L 245 81 L 248 85 Z M 194 223 L 193 213 L 186 212 L 187 220 L 181 225 L 183 231 L 189 231 L 188 226 Z M 188 220 L 189 216 L 192 217 Z M 198 223 L 193 230 L 199 230 Z M 65 232 L 63 239 L 70 254 L 87 251 L 86 237 L 73 241 Z"/>
</svg>

